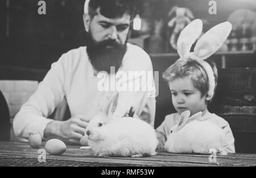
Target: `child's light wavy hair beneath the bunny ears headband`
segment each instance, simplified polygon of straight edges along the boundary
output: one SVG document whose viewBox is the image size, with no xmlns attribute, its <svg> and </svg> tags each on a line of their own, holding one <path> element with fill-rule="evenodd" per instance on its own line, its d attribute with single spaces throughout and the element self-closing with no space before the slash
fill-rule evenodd
<svg viewBox="0 0 256 178">
<path fill-rule="evenodd" d="M 213 74 L 215 78 L 215 88 L 217 86 L 218 73 L 216 64 L 209 60 L 208 63 L 213 69 Z M 167 82 L 174 81 L 177 78 L 189 77 L 195 88 L 201 92 L 201 96 L 205 96 L 209 90 L 209 80 L 204 67 L 198 63 L 196 60 L 184 59 L 176 61 L 174 65 L 166 69 L 163 72 L 163 78 Z"/>
</svg>

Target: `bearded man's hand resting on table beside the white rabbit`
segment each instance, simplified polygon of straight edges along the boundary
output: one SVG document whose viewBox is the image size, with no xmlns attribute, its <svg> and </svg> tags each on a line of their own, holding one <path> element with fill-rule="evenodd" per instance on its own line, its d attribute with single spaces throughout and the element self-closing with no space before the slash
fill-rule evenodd
<svg viewBox="0 0 256 178">
<path fill-rule="evenodd" d="M 88 122 L 89 119 L 81 115 L 76 115 L 67 121 L 49 122 L 44 130 L 44 137 L 57 136 L 65 142 L 80 144 L 79 141 L 84 136 Z"/>
</svg>

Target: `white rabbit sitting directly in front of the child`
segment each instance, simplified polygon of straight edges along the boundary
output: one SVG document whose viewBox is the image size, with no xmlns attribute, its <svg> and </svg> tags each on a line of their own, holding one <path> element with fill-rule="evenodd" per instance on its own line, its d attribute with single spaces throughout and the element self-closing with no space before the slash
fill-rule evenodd
<svg viewBox="0 0 256 178">
<path fill-rule="evenodd" d="M 226 155 L 225 133 L 215 123 L 200 121 L 202 112 L 189 117 L 190 111 L 180 115 L 180 121 L 172 127 L 164 149 L 174 153 L 212 154 L 215 149 L 220 155 Z"/>
</svg>

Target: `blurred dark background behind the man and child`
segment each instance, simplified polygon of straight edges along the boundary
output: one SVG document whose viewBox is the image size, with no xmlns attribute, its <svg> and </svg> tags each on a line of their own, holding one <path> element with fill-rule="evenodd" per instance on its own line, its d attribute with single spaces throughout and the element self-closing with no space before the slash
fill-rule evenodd
<svg viewBox="0 0 256 178">
<path fill-rule="evenodd" d="M 10 121 L 1 127 L 7 132 L 51 64 L 70 49 L 86 45 L 84 0 L 46 0 L 46 15 L 38 14 L 38 2 L 0 1 L 0 90 L 10 110 Z M 226 20 L 233 24 L 228 40 L 211 57 L 219 77 L 209 110 L 230 123 L 237 152 L 256 153 L 256 1 L 138 0 L 137 6 L 129 42 L 148 52 L 154 71 L 159 71 L 155 127 L 175 112 L 161 76 L 178 59 L 179 32 L 196 18 L 203 20 L 204 32 Z M 54 114 L 68 110 L 61 108 Z M 12 130 L 1 135 L 17 139 Z"/>
</svg>

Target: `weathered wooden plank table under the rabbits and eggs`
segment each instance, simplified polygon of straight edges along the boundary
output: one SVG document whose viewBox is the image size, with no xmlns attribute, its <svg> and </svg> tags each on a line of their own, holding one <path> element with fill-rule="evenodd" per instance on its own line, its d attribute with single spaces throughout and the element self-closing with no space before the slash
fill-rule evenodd
<svg viewBox="0 0 256 178">
<path fill-rule="evenodd" d="M 39 149 L 28 143 L 0 142 L 0 166 L 255 166 L 256 154 L 217 155 L 217 163 L 209 162 L 209 155 L 171 154 L 157 150 L 155 156 L 144 158 L 97 158 L 92 150 L 80 146 L 67 146 L 60 156 L 45 155 L 46 162 L 39 162 Z M 42 158 L 42 155 L 41 155 Z M 210 159 L 213 160 L 213 159 Z"/>
</svg>

